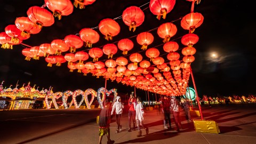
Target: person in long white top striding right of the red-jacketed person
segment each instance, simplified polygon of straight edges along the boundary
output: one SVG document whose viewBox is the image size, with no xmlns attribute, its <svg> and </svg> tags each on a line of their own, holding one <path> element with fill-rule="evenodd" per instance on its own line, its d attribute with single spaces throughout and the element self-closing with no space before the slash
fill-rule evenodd
<svg viewBox="0 0 256 144">
<path fill-rule="evenodd" d="M 137 122 L 137 126 L 138 126 L 138 135 L 137 137 L 141 137 L 141 130 L 140 130 L 140 125 L 143 129 L 146 130 L 146 134 L 148 134 L 148 127 L 146 127 L 144 124 L 143 124 L 143 120 L 144 120 L 144 111 L 143 111 L 143 106 L 142 106 L 142 103 L 141 103 L 141 98 L 140 97 L 137 97 L 137 106 L 135 108 L 136 110 L 136 122 Z"/>
</svg>

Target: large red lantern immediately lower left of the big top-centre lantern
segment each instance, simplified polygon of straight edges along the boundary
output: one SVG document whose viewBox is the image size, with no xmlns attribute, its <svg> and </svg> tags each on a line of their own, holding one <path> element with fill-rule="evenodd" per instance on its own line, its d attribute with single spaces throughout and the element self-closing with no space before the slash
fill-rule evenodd
<svg viewBox="0 0 256 144">
<path fill-rule="evenodd" d="M 112 40 L 113 36 L 116 36 L 120 32 L 120 26 L 113 19 L 103 19 L 99 23 L 100 32 L 105 35 L 105 39 Z"/>
</svg>

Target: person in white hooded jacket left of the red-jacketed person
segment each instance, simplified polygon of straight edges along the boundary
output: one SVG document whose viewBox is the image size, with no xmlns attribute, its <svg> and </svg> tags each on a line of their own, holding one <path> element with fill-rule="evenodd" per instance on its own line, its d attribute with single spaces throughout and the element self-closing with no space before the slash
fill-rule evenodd
<svg viewBox="0 0 256 144">
<path fill-rule="evenodd" d="M 122 125 L 120 125 L 120 121 L 121 121 L 121 116 L 122 116 L 122 113 L 123 113 L 123 108 L 124 108 L 124 105 L 121 102 L 121 97 L 117 96 L 116 97 L 116 102 L 114 103 L 112 111 L 111 111 L 111 115 L 113 115 L 114 110 L 116 111 L 116 124 L 117 124 L 116 133 L 118 133 L 119 130 L 120 131 L 122 130 Z"/>
</svg>

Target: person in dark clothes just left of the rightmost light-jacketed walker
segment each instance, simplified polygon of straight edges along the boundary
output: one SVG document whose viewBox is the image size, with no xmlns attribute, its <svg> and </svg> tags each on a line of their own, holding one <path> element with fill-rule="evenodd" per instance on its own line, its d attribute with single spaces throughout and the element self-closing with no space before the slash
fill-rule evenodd
<svg viewBox="0 0 256 144">
<path fill-rule="evenodd" d="M 162 100 L 162 111 L 164 114 L 164 129 L 168 129 L 166 126 L 166 121 L 168 121 L 170 129 L 171 129 L 171 118 L 170 118 L 170 107 L 171 101 L 164 95 L 164 99 Z"/>
</svg>

